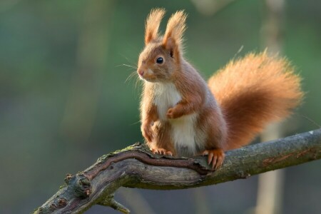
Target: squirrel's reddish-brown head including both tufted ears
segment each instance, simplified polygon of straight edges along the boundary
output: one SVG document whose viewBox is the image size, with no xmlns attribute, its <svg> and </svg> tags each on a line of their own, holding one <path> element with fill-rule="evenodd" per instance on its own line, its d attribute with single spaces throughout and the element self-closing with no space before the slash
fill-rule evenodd
<svg viewBox="0 0 321 214">
<path fill-rule="evenodd" d="M 153 9 L 146 20 L 145 48 L 138 58 L 137 73 L 149 82 L 170 81 L 180 68 L 186 15 L 177 11 L 168 20 L 163 36 L 158 35 L 164 9 Z"/>
</svg>

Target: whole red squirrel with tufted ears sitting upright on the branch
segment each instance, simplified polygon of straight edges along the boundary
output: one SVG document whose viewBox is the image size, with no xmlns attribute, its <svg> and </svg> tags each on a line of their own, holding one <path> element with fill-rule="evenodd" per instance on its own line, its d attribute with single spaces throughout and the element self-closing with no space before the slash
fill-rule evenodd
<svg viewBox="0 0 321 214">
<path fill-rule="evenodd" d="M 206 83 L 183 57 L 186 14 L 173 14 L 160 36 L 164 14 L 149 14 L 138 59 L 141 132 L 153 153 L 207 155 L 217 169 L 224 151 L 245 146 L 267 123 L 290 115 L 303 96 L 300 77 L 285 58 L 263 52 L 230 61 Z"/>
</svg>

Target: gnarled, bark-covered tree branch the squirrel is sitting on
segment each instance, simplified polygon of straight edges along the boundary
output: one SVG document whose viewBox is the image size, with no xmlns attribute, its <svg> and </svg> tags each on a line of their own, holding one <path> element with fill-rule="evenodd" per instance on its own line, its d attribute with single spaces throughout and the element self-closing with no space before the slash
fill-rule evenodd
<svg viewBox="0 0 321 214">
<path fill-rule="evenodd" d="M 83 213 L 106 205 L 129 213 L 113 195 L 121 186 L 174 190 L 213 185 L 321 158 L 321 129 L 226 152 L 222 167 L 212 170 L 205 157 L 173 158 L 152 154 L 136 143 L 108 155 L 76 175 L 34 213 Z"/>
</svg>

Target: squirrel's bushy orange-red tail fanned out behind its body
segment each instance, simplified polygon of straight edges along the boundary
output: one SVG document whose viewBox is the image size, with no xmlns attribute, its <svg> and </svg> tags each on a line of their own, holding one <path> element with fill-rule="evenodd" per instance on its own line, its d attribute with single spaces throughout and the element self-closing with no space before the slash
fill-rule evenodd
<svg viewBox="0 0 321 214">
<path fill-rule="evenodd" d="M 300 77 L 285 58 L 248 54 L 215 73 L 208 86 L 228 123 L 227 150 L 239 148 L 300 104 Z"/>
</svg>

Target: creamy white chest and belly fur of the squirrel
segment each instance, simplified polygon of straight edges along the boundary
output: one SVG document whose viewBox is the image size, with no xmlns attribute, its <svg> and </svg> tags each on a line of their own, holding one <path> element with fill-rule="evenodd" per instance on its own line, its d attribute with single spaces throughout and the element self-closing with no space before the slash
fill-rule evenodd
<svg viewBox="0 0 321 214">
<path fill-rule="evenodd" d="M 178 156 L 193 156 L 196 151 L 195 121 L 197 114 L 193 113 L 176 119 L 166 118 L 168 108 L 175 106 L 181 98 L 173 83 L 156 83 L 154 103 L 158 109 L 158 117 L 161 121 L 170 122 L 171 137 Z"/>
</svg>

